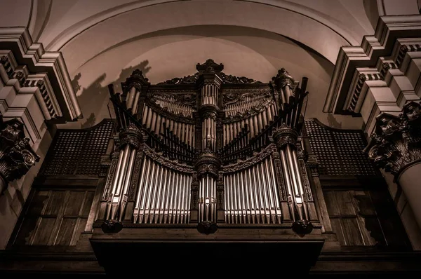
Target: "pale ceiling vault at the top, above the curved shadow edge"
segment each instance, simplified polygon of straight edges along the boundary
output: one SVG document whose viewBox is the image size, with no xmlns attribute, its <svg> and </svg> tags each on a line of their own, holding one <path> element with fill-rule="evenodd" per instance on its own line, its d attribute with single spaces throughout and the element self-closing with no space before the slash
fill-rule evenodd
<svg viewBox="0 0 421 279">
<path fill-rule="evenodd" d="M 41 1 L 39 1 L 41 2 Z M 42 1 L 34 34 L 46 50 L 97 39 L 91 52 L 150 32 L 194 25 L 253 27 L 282 34 L 335 62 L 338 47 L 358 45 L 373 27 L 363 1 Z M 41 3 L 39 3 L 41 9 Z M 176 12 L 175 12 L 176 11 Z M 159 20 L 157 20 L 159 19 Z M 38 24 L 39 26 L 39 24 Z M 111 31 L 111 32 L 110 32 Z M 116 34 L 116 31 L 119 31 Z M 118 36 L 116 36 L 118 35 Z M 111 38 L 110 38 L 111 37 Z M 89 55 L 89 53 L 86 53 Z"/>
</svg>

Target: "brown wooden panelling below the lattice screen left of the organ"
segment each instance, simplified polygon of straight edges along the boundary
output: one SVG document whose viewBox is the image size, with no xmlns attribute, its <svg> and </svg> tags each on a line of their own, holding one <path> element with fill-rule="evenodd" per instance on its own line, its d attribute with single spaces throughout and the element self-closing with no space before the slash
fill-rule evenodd
<svg viewBox="0 0 421 279">
<path fill-rule="evenodd" d="M 13 245 L 76 245 L 85 230 L 94 191 L 34 189 Z M 25 212 L 23 213 L 25 214 Z"/>
</svg>

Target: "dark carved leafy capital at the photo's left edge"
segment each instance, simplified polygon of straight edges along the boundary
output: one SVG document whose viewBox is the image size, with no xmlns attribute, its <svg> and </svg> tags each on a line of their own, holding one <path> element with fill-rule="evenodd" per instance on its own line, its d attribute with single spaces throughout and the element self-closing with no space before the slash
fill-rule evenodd
<svg viewBox="0 0 421 279">
<path fill-rule="evenodd" d="M 39 156 L 25 137 L 23 123 L 13 118 L 3 121 L 0 114 L 0 176 L 2 193 L 8 182 L 26 175 L 29 168 L 39 161 Z"/>
</svg>

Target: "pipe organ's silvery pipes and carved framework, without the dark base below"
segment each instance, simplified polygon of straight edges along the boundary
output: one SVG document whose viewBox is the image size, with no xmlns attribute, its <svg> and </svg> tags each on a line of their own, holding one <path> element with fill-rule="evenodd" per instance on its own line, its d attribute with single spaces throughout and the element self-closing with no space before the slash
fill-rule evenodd
<svg viewBox="0 0 421 279">
<path fill-rule="evenodd" d="M 286 224 L 317 220 L 300 132 L 308 92 L 285 69 L 269 83 L 222 73 L 207 60 L 192 76 L 151 85 L 136 70 L 109 86 L 114 152 L 98 211 L 103 230 L 124 224 Z"/>
</svg>

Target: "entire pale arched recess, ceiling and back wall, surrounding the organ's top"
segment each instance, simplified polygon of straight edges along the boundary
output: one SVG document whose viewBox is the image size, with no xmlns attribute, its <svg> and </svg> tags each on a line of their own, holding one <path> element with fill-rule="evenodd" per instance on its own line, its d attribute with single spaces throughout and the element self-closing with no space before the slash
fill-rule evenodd
<svg viewBox="0 0 421 279">
<path fill-rule="evenodd" d="M 67 127 L 108 117 L 107 84 L 119 86 L 134 67 L 156 83 L 194 74 L 194 65 L 208 58 L 225 64 L 227 74 L 263 82 L 281 67 L 295 79 L 308 76 L 307 117 L 337 128 L 361 127 L 359 118 L 321 108 L 340 47 L 359 45 L 374 33 L 363 0 L 32 3 L 29 31 L 46 50 L 62 52 L 83 111 L 84 118 Z"/>
</svg>

